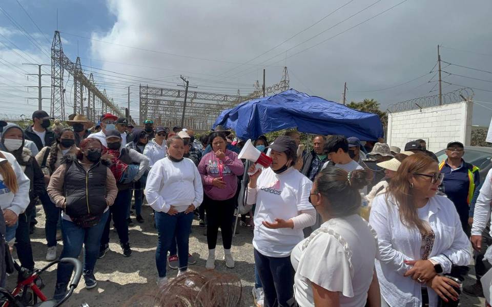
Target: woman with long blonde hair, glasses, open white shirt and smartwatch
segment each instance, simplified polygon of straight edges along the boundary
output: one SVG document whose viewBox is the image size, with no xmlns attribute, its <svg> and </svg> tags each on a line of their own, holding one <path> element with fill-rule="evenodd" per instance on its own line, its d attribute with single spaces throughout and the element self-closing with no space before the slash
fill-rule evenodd
<svg viewBox="0 0 492 307">
<path fill-rule="evenodd" d="M 440 274 L 469 264 L 470 242 L 453 202 L 436 195 L 442 179 L 433 158 L 414 154 L 373 200 L 369 222 L 378 235 L 382 306 L 434 307 L 438 296 L 458 299 L 459 284 Z"/>
</svg>

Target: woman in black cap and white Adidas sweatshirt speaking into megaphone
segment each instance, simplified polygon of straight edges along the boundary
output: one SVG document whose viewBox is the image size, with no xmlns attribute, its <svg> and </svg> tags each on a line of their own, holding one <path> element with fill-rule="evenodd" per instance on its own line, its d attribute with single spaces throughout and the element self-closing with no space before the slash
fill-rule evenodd
<svg viewBox="0 0 492 307">
<path fill-rule="evenodd" d="M 292 137 L 279 136 L 269 148 L 271 166 L 258 170 L 253 165 L 248 170 L 246 202 L 256 203 L 253 247 L 265 306 L 290 306 L 294 296 L 290 255 L 304 239 L 302 229 L 316 222 L 309 202 L 313 183 L 294 168 L 297 146 Z"/>
</svg>

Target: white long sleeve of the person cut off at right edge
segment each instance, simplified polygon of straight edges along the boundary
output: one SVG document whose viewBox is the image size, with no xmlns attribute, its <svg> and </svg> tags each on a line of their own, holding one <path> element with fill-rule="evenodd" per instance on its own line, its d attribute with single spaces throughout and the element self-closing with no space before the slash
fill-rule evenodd
<svg viewBox="0 0 492 307">
<path fill-rule="evenodd" d="M 480 189 L 480 194 L 477 198 L 477 202 L 475 203 L 475 211 L 473 213 L 473 225 L 471 226 L 471 235 L 472 236 L 481 236 L 485 227 L 487 227 L 487 223 L 489 218 L 491 218 L 492 206 L 492 170 L 489 170 L 487 176 L 485 177 L 485 181 L 483 181 L 482 188 Z M 492 234 L 492 229 L 490 230 Z M 487 249 L 485 253 L 485 258 L 492 262 L 492 247 Z"/>
</svg>

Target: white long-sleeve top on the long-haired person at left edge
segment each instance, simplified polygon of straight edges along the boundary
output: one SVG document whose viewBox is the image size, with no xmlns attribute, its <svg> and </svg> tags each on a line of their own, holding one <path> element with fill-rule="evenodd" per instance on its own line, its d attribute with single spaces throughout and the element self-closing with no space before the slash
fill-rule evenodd
<svg viewBox="0 0 492 307">
<path fill-rule="evenodd" d="M 24 211 L 26 211 L 27 206 L 29 206 L 29 189 L 31 188 L 31 181 L 24 174 L 20 168 L 19 163 L 15 157 L 5 151 L 2 151 L 5 158 L 12 166 L 17 179 L 17 192 L 14 194 L 7 188 L 4 184 L 4 178 L 0 174 L 0 207 L 2 210 L 9 209 L 14 212 L 17 216 Z"/>
</svg>

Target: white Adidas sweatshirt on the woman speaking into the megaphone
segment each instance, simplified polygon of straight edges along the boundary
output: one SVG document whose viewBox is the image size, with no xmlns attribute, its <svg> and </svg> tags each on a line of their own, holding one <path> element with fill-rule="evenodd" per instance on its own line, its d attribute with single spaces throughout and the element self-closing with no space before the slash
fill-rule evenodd
<svg viewBox="0 0 492 307">
<path fill-rule="evenodd" d="M 271 168 L 264 169 L 258 177 L 256 189 L 255 230 L 253 247 L 264 256 L 288 257 L 303 238 L 302 229 L 268 229 L 262 221 L 274 222 L 276 218 L 288 220 L 306 209 L 313 209 L 309 194 L 313 182 L 293 167 L 281 174 Z"/>
</svg>

